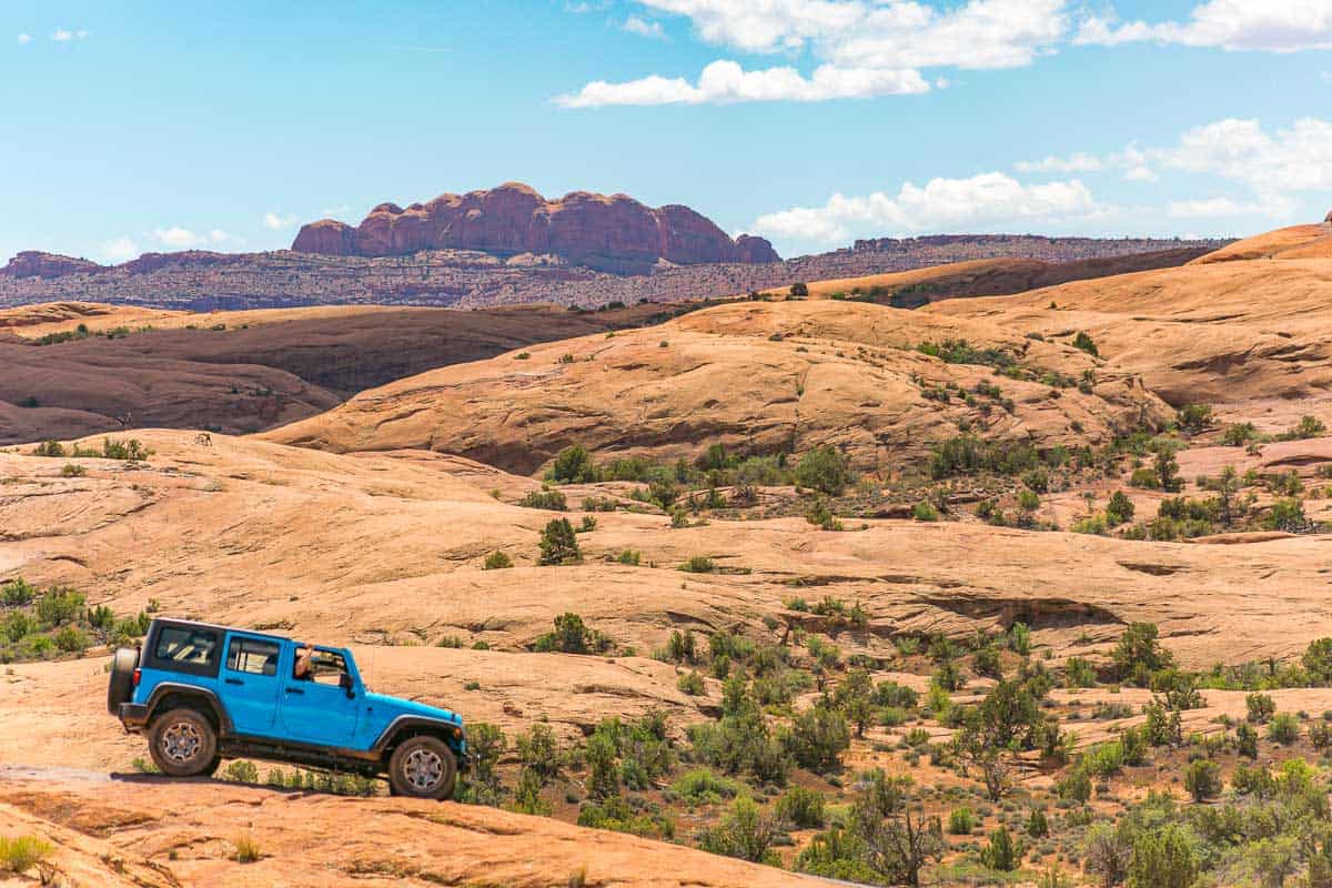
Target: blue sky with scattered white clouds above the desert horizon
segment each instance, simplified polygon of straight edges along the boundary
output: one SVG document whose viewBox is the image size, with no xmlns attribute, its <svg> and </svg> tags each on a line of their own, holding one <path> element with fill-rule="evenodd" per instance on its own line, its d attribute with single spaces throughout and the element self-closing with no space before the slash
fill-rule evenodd
<svg viewBox="0 0 1332 888">
<path fill-rule="evenodd" d="M 507 180 L 783 254 L 1332 208 L 1332 0 L 5 0 L 0 100 L 0 257 L 274 249 Z"/>
</svg>

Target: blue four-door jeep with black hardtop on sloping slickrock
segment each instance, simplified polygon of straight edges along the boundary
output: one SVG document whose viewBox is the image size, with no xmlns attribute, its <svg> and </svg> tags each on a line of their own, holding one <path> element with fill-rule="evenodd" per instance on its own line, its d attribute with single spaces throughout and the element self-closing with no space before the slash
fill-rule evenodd
<svg viewBox="0 0 1332 888">
<path fill-rule="evenodd" d="M 107 708 L 148 735 L 174 777 L 248 756 L 388 775 L 394 795 L 448 799 L 468 767 L 462 719 L 366 690 L 352 652 L 225 626 L 157 619 L 112 662 Z M 304 675 L 300 672 L 304 671 Z"/>
</svg>

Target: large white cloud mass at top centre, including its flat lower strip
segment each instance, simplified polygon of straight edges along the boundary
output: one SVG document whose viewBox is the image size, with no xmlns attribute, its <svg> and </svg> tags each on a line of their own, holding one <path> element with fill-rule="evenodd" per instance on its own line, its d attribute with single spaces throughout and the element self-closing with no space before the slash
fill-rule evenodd
<svg viewBox="0 0 1332 888">
<path fill-rule="evenodd" d="M 967 0 L 950 9 L 916 0 L 638 1 L 657 13 L 687 17 L 707 43 L 750 53 L 809 52 L 819 67 L 806 77 L 790 67 L 743 72 L 737 63 L 714 61 L 697 85 L 661 75 L 627 83 L 598 80 L 558 97 L 558 104 L 823 101 L 918 93 L 928 89 L 919 68 L 1028 65 L 1052 52 L 1071 27 L 1068 0 Z M 630 27 L 635 19 L 625 27 L 637 31 Z M 710 72 L 719 83 L 709 83 Z M 947 79 L 938 83 L 947 84 Z"/>
</svg>

